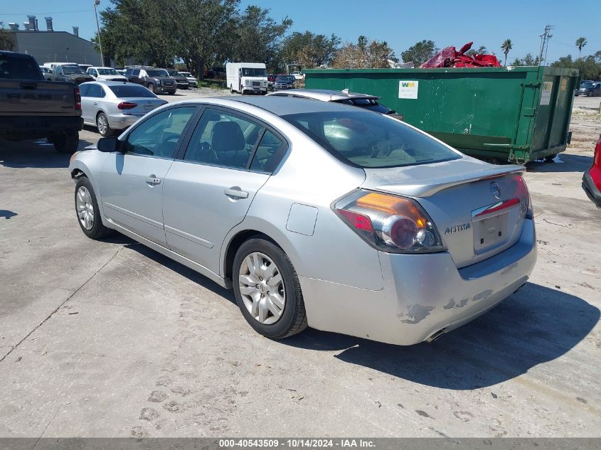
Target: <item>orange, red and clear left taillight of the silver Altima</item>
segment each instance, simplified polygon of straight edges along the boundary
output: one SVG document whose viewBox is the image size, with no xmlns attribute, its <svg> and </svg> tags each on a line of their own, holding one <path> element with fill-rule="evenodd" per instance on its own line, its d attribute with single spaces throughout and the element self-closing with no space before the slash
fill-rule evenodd
<svg viewBox="0 0 601 450">
<path fill-rule="evenodd" d="M 430 217 L 410 198 L 358 190 L 336 202 L 332 209 L 363 240 L 383 252 L 445 250 Z"/>
</svg>

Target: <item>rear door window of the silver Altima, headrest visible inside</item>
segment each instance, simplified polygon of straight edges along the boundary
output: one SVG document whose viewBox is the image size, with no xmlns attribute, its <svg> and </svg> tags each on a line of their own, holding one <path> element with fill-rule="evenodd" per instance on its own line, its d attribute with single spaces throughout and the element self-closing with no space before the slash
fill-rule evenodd
<svg viewBox="0 0 601 450">
<path fill-rule="evenodd" d="M 206 109 L 184 154 L 184 161 L 246 168 L 262 127 L 236 114 Z"/>
</svg>

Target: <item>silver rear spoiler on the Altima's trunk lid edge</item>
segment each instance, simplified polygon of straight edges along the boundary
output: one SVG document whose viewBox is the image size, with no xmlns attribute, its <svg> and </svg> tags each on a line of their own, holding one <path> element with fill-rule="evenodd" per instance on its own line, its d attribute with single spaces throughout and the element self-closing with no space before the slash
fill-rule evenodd
<svg viewBox="0 0 601 450">
<path fill-rule="evenodd" d="M 523 173 L 526 171 L 524 166 L 499 166 L 487 168 L 484 171 L 469 171 L 462 175 L 454 175 L 449 177 L 432 178 L 424 180 L 421 183 L 394 183 L 383 184 L 378 186 L 378 191 L 388 191 L 390 193 L 402 193 L 410 197 L 429 197 L 437 192 L 440 192 L 452 186 L 457 186 L 464 183 L 472 183 L 474 181 L 488 180 L 499 176 L 508 175 L 509 173 Z"/>
</svg>

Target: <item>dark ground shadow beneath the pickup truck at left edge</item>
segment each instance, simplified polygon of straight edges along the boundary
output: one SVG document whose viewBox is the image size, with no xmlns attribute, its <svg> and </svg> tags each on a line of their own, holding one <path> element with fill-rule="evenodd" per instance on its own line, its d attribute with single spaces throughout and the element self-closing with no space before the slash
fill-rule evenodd
<svg viewBox="0 0 601 450">
<path fill-rule="evenodd" d="M 80 139 L 78 150 L 92 142 Z M 0 164 L 4 167 L 61 168 L 69 166 L 70 154 L 58 153 L 46 139 L 6 141 L 0 139 Z"/>
</svg>

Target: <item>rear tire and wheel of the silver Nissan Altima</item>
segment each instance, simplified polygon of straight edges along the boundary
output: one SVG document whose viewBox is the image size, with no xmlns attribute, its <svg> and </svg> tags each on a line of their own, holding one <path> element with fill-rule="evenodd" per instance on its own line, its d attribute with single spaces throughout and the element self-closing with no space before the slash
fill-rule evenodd
<svg viewBox="0 0 601 450">
<path fill-rule="evenodd" d="M 275 264 L 275 267 L 270 274 L 271 264 Z M 259 268 L 253 269 L 251 265 Z M 232 274 L 238 307 L 257 333 L 270 339 L 283 339 L 307 328 L 307 314 L 297 272 L 280 247 L 260 238 L 244 242 L 234 257 Z M 258 283 L 256 288 L 253 284 L 255 280 Z M 283 307 L 280 308 L 278 303 Z M 279 311 L 280 315 L 277 316 L 273 311 Z"/>
</svg>

